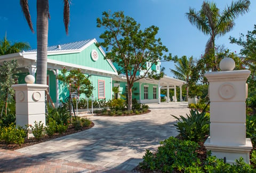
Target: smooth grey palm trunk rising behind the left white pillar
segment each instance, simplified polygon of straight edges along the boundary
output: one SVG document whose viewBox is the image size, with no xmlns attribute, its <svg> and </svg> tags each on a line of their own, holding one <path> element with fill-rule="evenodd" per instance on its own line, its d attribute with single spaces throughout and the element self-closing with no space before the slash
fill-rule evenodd
<svg viewBox="0 0 256 173">
<path fill-rule="evenodd" d="M 49 1 L 37 0 L 37 62 L 36 83 L 47 84 L 47 43 L 48 43 L 48 18 Z"/>
</svg>

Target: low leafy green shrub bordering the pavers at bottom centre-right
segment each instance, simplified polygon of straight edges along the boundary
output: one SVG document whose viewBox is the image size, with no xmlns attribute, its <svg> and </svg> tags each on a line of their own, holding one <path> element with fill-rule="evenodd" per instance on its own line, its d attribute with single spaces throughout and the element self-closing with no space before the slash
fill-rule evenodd
<svg viewBox="0 0 256 173">
<path fill-rule="evenodd" d="M 201 162 L 195 152 L 199 145 L 193 141 L 181 141 L 170 137 L 160 142 L 156 153 L 146 150 L 141 168 L 151 171 L 172 172 L 174 169 L 184 170 L 191 165 L 199 166 Z"/>
</svg>

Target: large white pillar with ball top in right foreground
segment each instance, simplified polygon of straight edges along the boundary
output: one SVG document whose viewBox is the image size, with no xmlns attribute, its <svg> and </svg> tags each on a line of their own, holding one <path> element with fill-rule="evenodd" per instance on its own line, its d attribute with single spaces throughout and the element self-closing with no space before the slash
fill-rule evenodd
<svg viewBox="0 0 256 173">
<path fill-rule="evenodd" d="M 231 67 L 231 64 L 232 67 Z M 233 59 L 220 63 L 220 72 L 207 72 L 210 96 L 210 137 L 204 143 L 217 158 L 234 163 L 241 156 L 250 163 L 252 143 L 246 138 L 245 100 L 249 70 L 234 70 Z"/>
</svg>

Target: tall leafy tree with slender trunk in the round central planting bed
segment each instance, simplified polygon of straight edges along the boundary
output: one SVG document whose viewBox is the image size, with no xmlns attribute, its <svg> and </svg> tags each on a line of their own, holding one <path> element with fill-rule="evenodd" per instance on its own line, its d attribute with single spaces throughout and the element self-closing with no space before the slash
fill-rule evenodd
<svg viewBox="0 0 256 173">
<path fill-rule="evenodd" d="M 103 12 L 102 19 L 97 19 L 97 27 L 105 27 L 105 32 L 100 35 L 103 39 L 99 46 L 106 47 L 106 59 L 116 63 L 120 68 L 118 73 L 125 74 L 128 89 L 128 110 L 132 109 L 132 87 L 135 81 L 145 77 L 163 76 L 161 72 L 156 76 L 155 71 L 150 69 L 157 64 L 167 52 L 167 48 L 162 45 L 161 39 L 156 39 L 158 27 L 151 26 L 140 29 L 140 24 L 133 18 L 125 16 L 124 12 Z M 108 52 L 108 50 L 111 51 Z M 147 63 L 150 63 L 147 65 Z M 138 76 L 137 72 L 144 71 Z"/>
</svg>

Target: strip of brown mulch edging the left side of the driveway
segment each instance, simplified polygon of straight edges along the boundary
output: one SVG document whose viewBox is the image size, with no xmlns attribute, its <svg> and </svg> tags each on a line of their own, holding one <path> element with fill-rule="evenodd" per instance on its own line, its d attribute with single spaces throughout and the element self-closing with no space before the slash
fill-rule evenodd
<svg viewBox="0 0 256 173">
<path fill-rule="evenodd" d="M 45 141 L 50 141 L 51 139 L 55 139 L 55 138 L 58 138 L 58 137 L 61 137 L 61 136 L 67 136 L 67 135 L 70 135 L 70 134 L 78 133 L 79 131 L 84 131 L 84 130 L 90 129 L 93 126 L 94 126 L 94 123 L 92 122 L 89 127 L 82 127 L 79 130 L 75 130 L 74 126 L 70 125 L 68 127 L 67 131 L 63 134 L 56 133 L 51 137 L 46 135 L 46 136 L 43 136 L 39 140 L 35 139 L 35 138 L 29 138 L 29 139 L 26 138 L 25 142 L 21 145 L 19 145 L 19 144 L 6 144 L 4 142 L 0 142 L 0 148 L 5 149 L 5 150 L 18 150 L 18 149 L 21 149 L 21 148 L 26 147 L 26 146 L 38 144 L 38 143 L 45 142 Z"/>
</svg>

